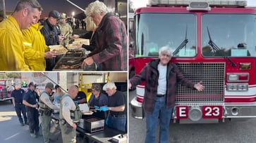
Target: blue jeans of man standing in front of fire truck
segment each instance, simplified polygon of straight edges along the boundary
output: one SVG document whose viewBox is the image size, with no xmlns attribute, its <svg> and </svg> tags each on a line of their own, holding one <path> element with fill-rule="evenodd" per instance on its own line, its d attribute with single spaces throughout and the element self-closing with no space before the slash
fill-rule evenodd
<svg viewBox="0 0 256 143">
<path fill-rule="evenodd" d="M 158 118 L 160 120 L 159 142 L 168 143 L 169 124 L 173 109 L 166 109 L 165 97 L 157 97 L 152 114 L 146 114 L 147 134 L 145 143 L 156 142 Z"/>
</svg>

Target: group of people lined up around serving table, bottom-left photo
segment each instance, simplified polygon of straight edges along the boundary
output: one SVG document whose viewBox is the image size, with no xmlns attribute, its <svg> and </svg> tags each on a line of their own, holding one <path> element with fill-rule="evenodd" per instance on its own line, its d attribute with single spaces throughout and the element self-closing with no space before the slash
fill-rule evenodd
<svg viewBox="0 0 256 143">
<path fill-rule="evenodd" d="M 68 88 L 68 93 L 63 93 L 59 85 L 54 88 L 53 83 L 47 83 L 44 91 L 39 93 L 36 87 L 35 83 L 30 82 L 25 92 L 16 84 L 11 94 L 20 125 L 29 125 L 31 137 L 39 135 L 41 125 L 44 142 L 49 142 L 51 114 L 54 110 L 59 110 L 63 142 L 76 142 L 77 123 L 82 118 L 78 104 L 87 102 L 85 93 L 80 92 L 75 85 Z M 102 89 L 107 95 L 102 93 Z M 81 97 L 78 97 L 79 93 L 83 93 Z M 58 102 L 59 106 L 54 102 Z M 103 88 L 100 84 L 94 84 L 88 106 L 90 110 L 95 111 L 92 116 L 104 118 L 110 128 L 127 131 L 126 97 L 123 92 L 116 90 L 114 83 L 106 83 Z"/>
</svg>

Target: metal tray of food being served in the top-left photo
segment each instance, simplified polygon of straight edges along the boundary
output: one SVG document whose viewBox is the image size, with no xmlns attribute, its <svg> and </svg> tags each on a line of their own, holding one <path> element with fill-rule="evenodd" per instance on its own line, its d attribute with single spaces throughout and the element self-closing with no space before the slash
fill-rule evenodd
<svg viewBox="0 0 256 143">
<path fill-rule="evenodd" d="M 86 56 L 85 49 L 68 50 L 68 52 L 56 62 L 53 70 L 83 70 L 81 64 Z"/>
</svg>

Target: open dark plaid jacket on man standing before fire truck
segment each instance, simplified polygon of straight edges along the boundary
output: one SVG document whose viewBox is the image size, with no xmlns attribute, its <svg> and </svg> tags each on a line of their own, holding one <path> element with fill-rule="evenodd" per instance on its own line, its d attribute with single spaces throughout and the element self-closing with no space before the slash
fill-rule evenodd
<svg viewBox="0 0 256 143">
<path fill-rule="evenodd" d="M 159 79 L 159 71 L 157 70 L 158 60 L 152 60 L 148 63 L 140 74 L 133 76 L 130 79 L 132 86 L 140 84 L 145 81 L 145 94 L 143 101 L 143 108 L 148 114 L 152 114 L 154 109 L 154 104 L 157 98 L 157 86 Z M 176 64 L 169 62 L 166 71 L 166 108 L 173 108 L 175 106 L 175 97 L 177 95 L 177 86 L 181 83 L 182 86 L 188 88 L 193 88 L 194 83 L 192 81 L 185 79 L 181 71 L 178 69 Z"/>
</svg>

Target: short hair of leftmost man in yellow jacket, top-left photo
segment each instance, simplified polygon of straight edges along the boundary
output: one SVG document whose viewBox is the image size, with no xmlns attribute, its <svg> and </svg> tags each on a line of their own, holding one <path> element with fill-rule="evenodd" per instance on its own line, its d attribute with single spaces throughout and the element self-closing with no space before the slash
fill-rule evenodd
<svg viewBox="0 0 256 143">
<path fill-rule="evenodd" d="M 23 8 L 28 8 L 28 13 L 34 11 L 33 8 L 37 8 L 38 11 L 43 11 L 42 6 L 37 0 L 20 0 L 18 1 L 14 11 L 21 11 Z"/>
</svg>

